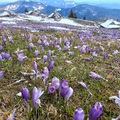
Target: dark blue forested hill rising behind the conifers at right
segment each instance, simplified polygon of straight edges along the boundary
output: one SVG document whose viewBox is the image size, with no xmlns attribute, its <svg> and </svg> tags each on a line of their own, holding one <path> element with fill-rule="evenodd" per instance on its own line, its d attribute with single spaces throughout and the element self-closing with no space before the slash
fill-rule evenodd
<svg viewBox="0 0 120 120">
<path fill-rule="evenodd" d="M 69 11 L 70 9 L 68 9 Z M 113 18 L 120 19 L 120 9 L 109 9 L 93 5 L 82 4 L 72 8 L 77 17 L 82 19 L 84 16 L 88 20 L 106 20 Z"/>
</svg>

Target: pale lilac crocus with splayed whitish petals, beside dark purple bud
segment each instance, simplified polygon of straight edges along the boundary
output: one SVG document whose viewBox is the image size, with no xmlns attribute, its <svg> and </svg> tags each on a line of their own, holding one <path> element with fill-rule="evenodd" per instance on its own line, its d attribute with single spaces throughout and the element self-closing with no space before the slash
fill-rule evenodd
<svg viewBox="0 0 120 120">
<path fill-rule="evenodd" d="M 32 103 L 33 103 L 33 106 L 36 107 L 37 104 L 40 106 L 40 97 L 41 95 L 44 93 L 44 91 L 41 91 L 40 88 L 36 88 L 34 87 L 33 91 L 32 91 Z"/>
</svg>

